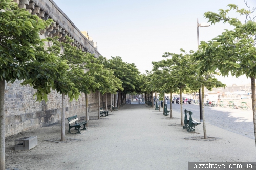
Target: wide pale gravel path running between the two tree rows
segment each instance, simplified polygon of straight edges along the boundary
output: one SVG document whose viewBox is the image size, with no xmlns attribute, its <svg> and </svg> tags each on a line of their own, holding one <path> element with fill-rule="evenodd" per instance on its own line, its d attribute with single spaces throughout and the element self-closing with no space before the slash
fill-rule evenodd
<svg viewBox="0 0 256 170">
<path fill-rule="evenodd" d="M 82 116 L 82 115 L 78 115 Z M 203 126 L 188 133 L 173 119 L 143 104 L 126 104 L 109 117 L 89 113 L 87 131 L 59 140 L 60 122 L 6 138 L 6 165 L 18 169 L 188 169 L 188 162 L 255 162 L 255 141 L 207 124 L 215 141 L 186 140 L 203 136 Z M 66 120 L 66 132 L 68 132 Z M 14 151 L 14 139 L 38 136 L 38 146 Z"/>
</svg>

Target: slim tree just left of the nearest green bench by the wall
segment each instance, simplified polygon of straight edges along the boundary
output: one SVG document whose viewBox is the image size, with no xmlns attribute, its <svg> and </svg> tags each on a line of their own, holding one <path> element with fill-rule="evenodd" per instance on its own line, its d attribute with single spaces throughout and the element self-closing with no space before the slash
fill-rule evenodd
<svg viewBox="0 0 256 170">
<path fill-rule="evenodd" d="M 50 50 L 55 50 L 56 55 L 59 55 L 62 61 L 67 61 L 68 65 L 65 71 L 58 71 L 57 78 L 54 80 L 54 89 L 62 94 L 61 98 L 61 141 L 65 141 L 65 96 L 68 95 L 70 101 L 78 99 L 80 93 L 75 83 L 83 77 L 81 65 L 84 62 L 83 52 L 77 47 L 71 46 L 72 40 L 66 36 L 66 41 L 59 43 L 57 37 L 55 39 L 48 38 L 53 41 L 53 46 Z M 60 53 L 60 47 L 63 48 L 63 53 Z"/>
</svg>

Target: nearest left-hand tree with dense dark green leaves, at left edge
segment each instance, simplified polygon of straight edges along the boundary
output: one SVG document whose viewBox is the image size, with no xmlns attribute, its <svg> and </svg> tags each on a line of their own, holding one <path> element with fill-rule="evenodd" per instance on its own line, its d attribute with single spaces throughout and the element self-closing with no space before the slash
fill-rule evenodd
<svg viewBox="0 0 256 170">
<path fill-rule="evenodd" d="M 37 51 L 44 45 L 39 31 L 53 20 L 44 21 L 31 15 L 11 0 L 1 1 L 0 9 L 0 169 L 5 169 L 5 81 L 30 80 L 37 89 L 37 101 L 47 101 L 55 77 L 44 71 L 56 72 L 50 64 L 63 68 L 65 63 L 59 63 L 59 58 L 53 53 Z"/>
</svg>

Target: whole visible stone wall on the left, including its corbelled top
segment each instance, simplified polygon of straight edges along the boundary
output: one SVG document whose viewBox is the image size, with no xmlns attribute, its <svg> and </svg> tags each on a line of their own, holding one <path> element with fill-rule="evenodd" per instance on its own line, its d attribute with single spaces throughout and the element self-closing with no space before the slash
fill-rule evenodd
<svg viewBox="0 0 256 170">
<path fill-rule="evenodd" d="M 80 48 L 84 52 L 94 54 L 97 58 L 100 53 L 97 50 L 93 38 L 87 32 L 83 34 L 78 30 L 68 16 L 52 0 L 14 0 L 19 8 L 24 8 L 31 14 L 39 16 L 41 19 L 52 18 L 54 23 L 46 30 L 40 31 L 40 37 L 59 37 L 59 41 L 65 41 L 65 36 L 74 40 L 73 46 Z M 49 42 L 46 46 L 51 46 Z M 10 136 L 25 130 L 39 128 L 61 119 L 61 95 L 53 91 L 45 101 L 36 102 L 33 98 L 35 90 L 27 86 L 21 86 L 20 81 L 13 84 L 7 83 L 5 87 L 5 109 L 6 109 L 6 136 Z M 114 102 L 114 95 L 112 97 Z M 98 109 L 98 93 L 88 95 L 88 111 Z M 105 95 L 100 95 L 100 105 L 105 107 Z M 108 105 L 110 105 L 110 94 L 108 95 Z M 77 101 L 69 101 L 65 98 L 65 117 L 85 113 L 84 94 L 81 94 Z M 90 118 L 89 118 L 90 119 Z"/>
</svg>

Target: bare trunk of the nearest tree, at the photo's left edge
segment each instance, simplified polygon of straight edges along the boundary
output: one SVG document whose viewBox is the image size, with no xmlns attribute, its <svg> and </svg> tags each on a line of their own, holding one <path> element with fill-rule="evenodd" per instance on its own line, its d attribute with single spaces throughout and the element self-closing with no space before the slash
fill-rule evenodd
<svg viewBox="0 0 256 170">
<path fill-rule="evenodd" d="M 5 169 L 5 79 L 0 80 L 0 169 Z"/>
</svg>

